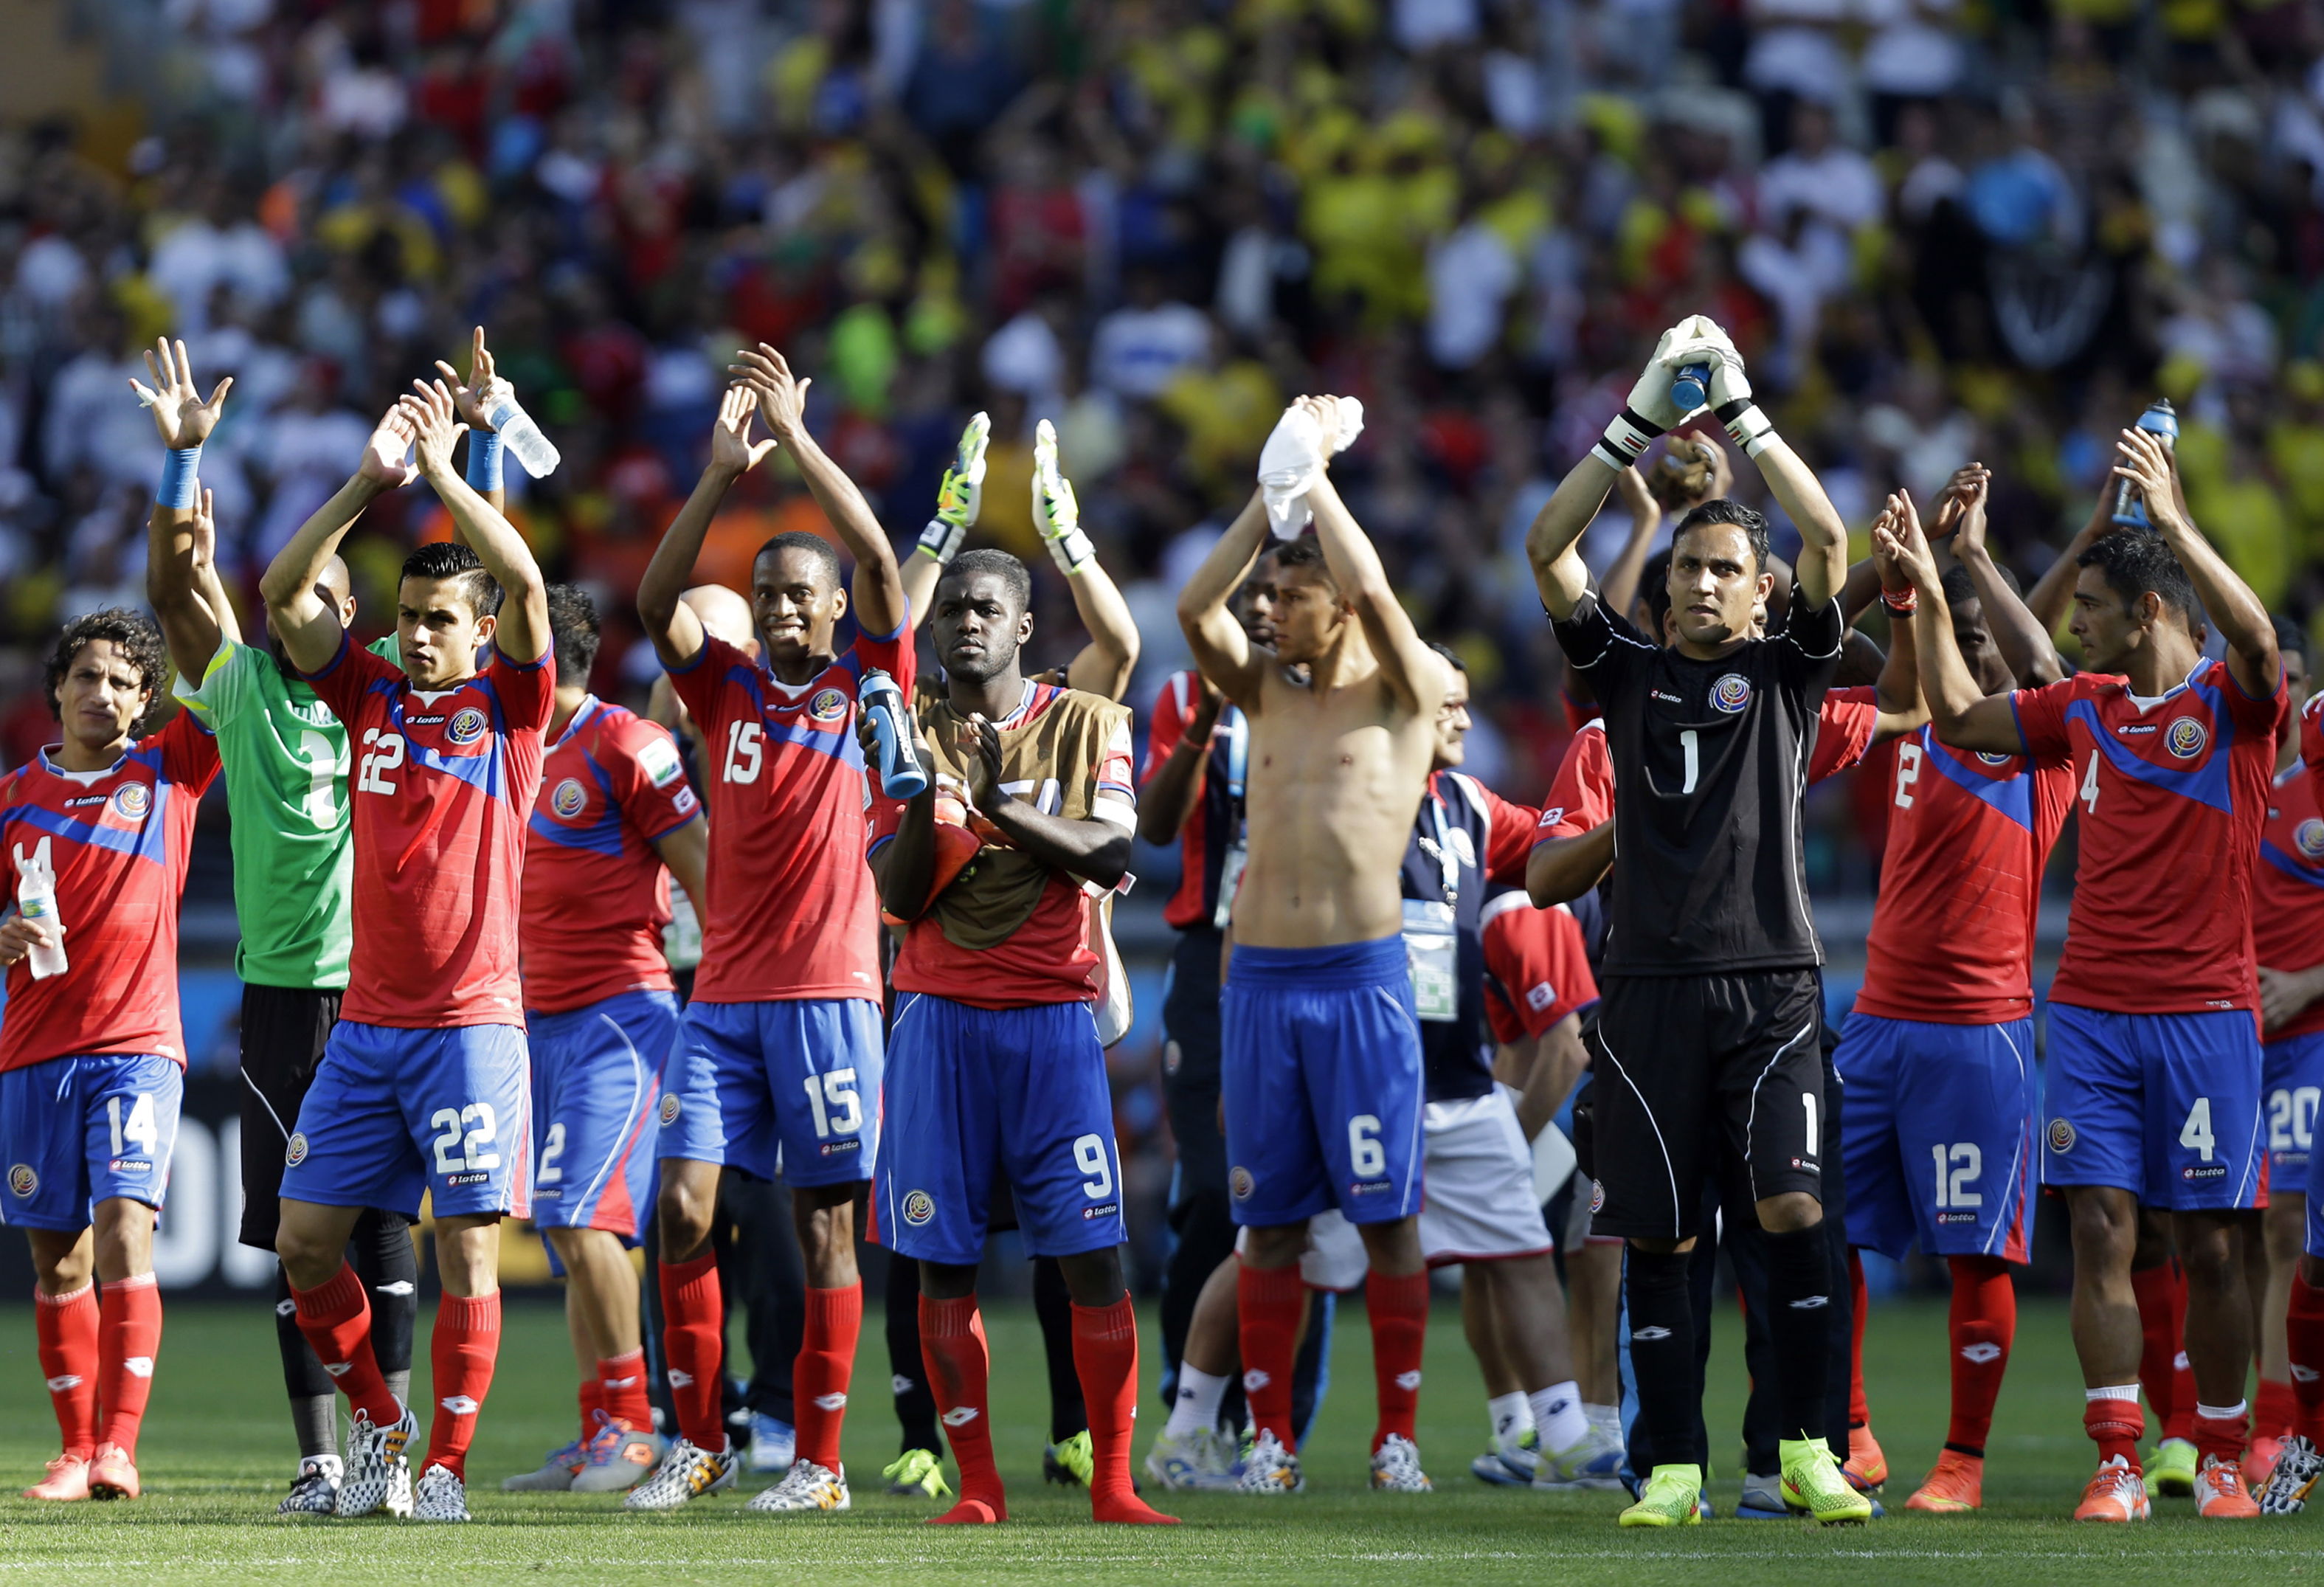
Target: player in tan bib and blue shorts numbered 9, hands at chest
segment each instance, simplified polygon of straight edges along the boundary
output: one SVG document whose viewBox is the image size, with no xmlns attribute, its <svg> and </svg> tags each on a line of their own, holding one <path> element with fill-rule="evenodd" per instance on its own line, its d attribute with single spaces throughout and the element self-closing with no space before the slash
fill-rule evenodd
<svg viewBox="0 0 2324 1587">
<path fill-rule="evenodd" d="M 932 618 L 946 697 L 916 713 L 932 781 L 909 802 L 878 802 L 881 904 L 911 925 L 895 962 L 890 1150 L 874 1204 L 881 1241 L 920 1266 L 920 1341 L 960 1464 L 960 1503 L 934 1520 L 1009 1520 L 976 1310 L 1004 1169 L 1027 1252 L 1057 1257 L 1074 1299 L 1090 1515 L 1169 1522 L 1129 1485 L 1139 1331 L 1083 895 L 1118 885 L 1129 862 L 1129 713 L 1023 676 L 1030 597 L 1032 576 L 1002 551 L 946 569 Z"/>
</svg>

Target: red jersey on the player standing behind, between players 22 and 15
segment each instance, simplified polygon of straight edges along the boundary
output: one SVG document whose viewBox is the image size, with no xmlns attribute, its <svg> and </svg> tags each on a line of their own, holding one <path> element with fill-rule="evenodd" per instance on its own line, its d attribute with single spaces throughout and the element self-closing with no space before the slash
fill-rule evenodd
<svg viewBox="0 0 2324 1587">
<path fill-rule="evenodd" d="M 676 741 L 583 699 L 541 762 L 525 836 L 525 1008 L 676 988 L 662 957 L 669 869 L 653 846 L 700 818 Z"/>
</svg>

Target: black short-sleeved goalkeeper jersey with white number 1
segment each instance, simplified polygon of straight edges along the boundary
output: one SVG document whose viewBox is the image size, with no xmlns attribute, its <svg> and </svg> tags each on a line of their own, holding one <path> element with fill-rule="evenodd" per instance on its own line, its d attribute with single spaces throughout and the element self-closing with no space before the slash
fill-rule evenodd
<svg viewBox="0 0 2324 1587">
<path fill-rule="evenodd" d="M 1843 634 L 1838 599 L 1794 599 L 1778 637 L 1710 662 L 1650 644 L 1594 590 L 1557 623 L 1606 713 L 1613 757 L 1608 976 L 1824 962 L 1799 797 Z"/>
</svg>

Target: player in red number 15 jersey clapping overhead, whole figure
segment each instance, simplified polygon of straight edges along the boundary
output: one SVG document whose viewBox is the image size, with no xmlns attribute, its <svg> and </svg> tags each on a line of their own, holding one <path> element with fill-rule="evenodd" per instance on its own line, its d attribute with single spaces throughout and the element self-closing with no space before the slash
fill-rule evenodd
<svg viewBox="0 0 2324 1587">
<path fill-rule="evenodd" d="M 806 388 L 774 349 L 741 353 L 711 428 L 711 462 L 637 590 L 637 613 L 706 753 L 709 909 L 702 967 L 662 1078 L 662 1350 L 679 1438 L 630 1492 L 669 1510 L 734 1482 L 720 1417 L 725 1306 L 711 1211 L 718 1169 L 790 1185 L 806 1262 L 806 1331 L 792 1369 L 797 1457 L 758 1513 L 848 1508 L 839 1429 L 862 1329 L 855 1194 L 881 1122 L 878 906 L 865 869 L 865 762 L 855 692 L 865 672 L 911 690 L 913 655 L 895 551 L 855 483 L 806 430 Z M 774 439 L 751 441 L 762 416 Z M 776 534 L 751 562 L 762 653 L 709 634 L 679 599 L 727 488 L 776 446 L 855 558 L 816 534 Z M 855 616 L 839 655 L 837 627 Z"/>
</svg>

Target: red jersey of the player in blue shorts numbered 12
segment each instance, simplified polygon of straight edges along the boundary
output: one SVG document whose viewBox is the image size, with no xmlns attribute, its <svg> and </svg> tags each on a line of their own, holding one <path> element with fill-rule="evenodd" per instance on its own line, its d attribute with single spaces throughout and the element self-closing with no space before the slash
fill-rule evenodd
<svg viewBox="0 0 2324 1587">
<path fill-rule="evenodd" d="M 2071 809 L 2071 767 L 1957 751 L 1929 727 L 1899 741 L 1857 1008 L 1931 1025 L 2031 1015 L 2040 871 Z"/>
</svg>

